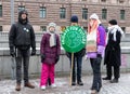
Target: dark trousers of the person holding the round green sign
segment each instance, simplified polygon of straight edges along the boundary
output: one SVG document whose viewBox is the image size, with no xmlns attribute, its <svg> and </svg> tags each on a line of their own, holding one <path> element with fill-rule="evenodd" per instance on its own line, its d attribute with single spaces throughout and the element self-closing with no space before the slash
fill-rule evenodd
<svg viewBox="0 0 130 94">
<path fill-rule="evenodd" d="M 69 61 L 72 65 L 72 56 L 69 57 Z M 81 81 L 81 68 L 82 68 L 81 65 L 82 65 L 82 56 L 74 55 L 74 66 L 73 66 L 73 77 L 72 77 L 73 82 L 76 82 L 76 66 L 77 66 L 77 82 Z"/>
</svg>

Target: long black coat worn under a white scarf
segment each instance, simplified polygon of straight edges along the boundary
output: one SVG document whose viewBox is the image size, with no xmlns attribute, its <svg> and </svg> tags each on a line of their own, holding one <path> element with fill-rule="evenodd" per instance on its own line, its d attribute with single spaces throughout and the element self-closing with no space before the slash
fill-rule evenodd
<svg viewBox="0 0 130 94">
<path fill-rule="evenodd" d="M 108 43 L 105 49 L 104 64 L 110 64 L 112 66 L 121 65 L 121 50 L 120 50 L 120 39 L 121 33 L 117 31 L 116 41 L 114 41 L 114 33 L 108 35 Z"/>
</svg>

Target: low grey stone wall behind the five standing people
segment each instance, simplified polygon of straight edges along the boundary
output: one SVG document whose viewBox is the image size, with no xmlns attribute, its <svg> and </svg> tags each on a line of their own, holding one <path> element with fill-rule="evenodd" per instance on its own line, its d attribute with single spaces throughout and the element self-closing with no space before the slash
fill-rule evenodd
<svg viewBox="0 0 130 94">
<path fill-rule="evenodd" d="M 42 32 L 36 33 L 36 41 L 37 41 L 37 55 L 30 57 L 29 63 L 29 73 L 31 76 L 40 75 L 41 70 L 41 63 L 39 56 L 39 45 L 41 40 Z M 130 71 L 130 35 L 127 33 L 126 37 L 121 41 L 121 72 Z M 11 77 L 12 70 L 12 57 L 9 53 L 9 45 L 8 45 L 8 32 L 0 33 L 0 77 Z M 56 64 L 55 71 L 60 75 L 69 72 L 69 61 L 65 55 L 65 51 L 62 49 L 62 53 L 60 56 L 60 61 Z M 84 59 L 82 62 L 82 72 L 83 73 L 92 73 L 91 66 L 89 59 Z M 105 72 L 105 66 L 102 63 L 102 72 Z"/>
</svg>

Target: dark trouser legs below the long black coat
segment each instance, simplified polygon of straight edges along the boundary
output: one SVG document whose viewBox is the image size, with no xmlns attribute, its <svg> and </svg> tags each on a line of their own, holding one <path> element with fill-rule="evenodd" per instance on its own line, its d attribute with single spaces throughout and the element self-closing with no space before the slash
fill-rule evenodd
<svg viewBox="0 0 130 94">
<path fill-rule="evenodd" d="M 106 64 L 106 73 L 107 78 L 112 79 L 113 68 L 114 67 L 114 78 L 118 80 L 119 78 L 119 66 L 112 66 L 110 64 Z"/>
</svg>

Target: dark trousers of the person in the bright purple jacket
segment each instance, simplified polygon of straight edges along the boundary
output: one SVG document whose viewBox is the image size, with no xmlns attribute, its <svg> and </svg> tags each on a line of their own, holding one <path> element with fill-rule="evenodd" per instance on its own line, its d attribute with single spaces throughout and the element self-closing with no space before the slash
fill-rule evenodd
<svg viewBox="0 0 130 94">
<path fill-rule="evenodd" d="M 90 58 L 91 67 L 93 70 L 93 83 L 92 83 L 92 90 L 100 91 L 102 86 L 102 80 L 101 80 L 101 61 L 102 57 L 96 58 Z"/>
</svg>

